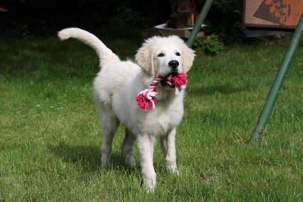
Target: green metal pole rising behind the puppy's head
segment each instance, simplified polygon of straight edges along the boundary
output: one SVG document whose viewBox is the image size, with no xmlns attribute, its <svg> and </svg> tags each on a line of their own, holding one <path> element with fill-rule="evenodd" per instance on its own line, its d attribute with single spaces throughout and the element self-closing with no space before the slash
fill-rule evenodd
<svg viewBox="0 0 303 202">
<path fill-rule="evenodd" d="M 188 47 L 191 47 L 199 30 L 201 29 L 201 25 L 204 23 L 204 20 L 213 4 L 214 0 L 206 0 L 201 12 L 200 12 L 200 15 L 195 23 L 195 25 L 193 26 L 193 29 L 189 35 L 189 38 L 186 42 L 187 46 Z"/>
</svg>

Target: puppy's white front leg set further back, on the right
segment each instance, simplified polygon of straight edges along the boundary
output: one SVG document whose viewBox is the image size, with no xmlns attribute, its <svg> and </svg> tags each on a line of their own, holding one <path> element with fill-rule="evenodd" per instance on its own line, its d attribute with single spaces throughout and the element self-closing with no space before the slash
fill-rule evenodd
<svg viewBox="0 0 303 202">
<path fill-rule="evenodd" d="M 161 146 L 165 155 L 165 166 L 167 171 L 179 174 L 176 163 L 176 129 L 174 128 L 168 135 L 161 137 Z"/>
</svg>

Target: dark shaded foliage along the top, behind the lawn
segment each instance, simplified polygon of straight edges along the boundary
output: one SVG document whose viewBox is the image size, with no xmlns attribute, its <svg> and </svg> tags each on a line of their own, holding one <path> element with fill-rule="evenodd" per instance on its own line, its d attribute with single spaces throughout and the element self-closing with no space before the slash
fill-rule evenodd
<svg viewBox="0 0 303 202">
<path fill-rule="evenodd" d="M 199 13 L 205 0 L 194 1 Z M 169 20 L 169 0 L 4 0 L 0 7 L 0 37 L 55 36 L 66 27 L 80 27 L 95 34 L 138 37 L 141 31 Z M 206 34 L 224 43 L 244 40 L 241 0 L 216 0 L 207 16 Z"/>
</svg>

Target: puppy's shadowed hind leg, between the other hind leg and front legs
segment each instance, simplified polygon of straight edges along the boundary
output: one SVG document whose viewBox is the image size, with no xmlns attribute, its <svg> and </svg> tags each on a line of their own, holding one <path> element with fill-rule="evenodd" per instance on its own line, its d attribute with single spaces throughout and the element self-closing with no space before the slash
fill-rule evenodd
<svg viewBox="0 0 303 202">
<path fill-rule="evenodd" d="M 121 146 L 122 155 L 125 159 L 125 163 L 135 168 L 136 163 L 134 159 L 134 143 L 136 141 L 135 135 L 133 135 L 127 128 L 125 128 L 125 137 Z"/>
</svg>

